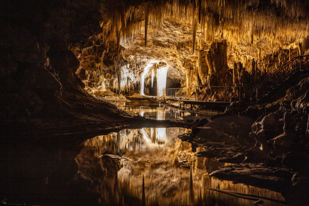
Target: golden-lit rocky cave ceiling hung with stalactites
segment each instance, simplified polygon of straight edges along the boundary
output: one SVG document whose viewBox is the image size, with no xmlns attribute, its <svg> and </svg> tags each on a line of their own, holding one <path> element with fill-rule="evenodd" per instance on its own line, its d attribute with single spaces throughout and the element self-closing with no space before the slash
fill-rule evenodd
<svg viewBox="0 0 309 206">
<path fill-rule="evenodd" d="M 308 9 L 307 1 L 284 0 L 102 1 L 101 32 L 88 42 L 112 45 L 113 61 L 103 67 L 117 71 L 129 65 L 133 83 L 147 63 L 164 61 L 167 76 L 185 85 L 187 70 L 197 67 L 198 50 L 226 39 L 232 67 L 235 61 L 257 59 L 261 48 L 264 54 L 288 48 L 308 35 Z M 81 53 L 80 44 L 71 48 L 77 56 Z M 117 74 L 112 76 L 116 82 Z"/>
</svg>

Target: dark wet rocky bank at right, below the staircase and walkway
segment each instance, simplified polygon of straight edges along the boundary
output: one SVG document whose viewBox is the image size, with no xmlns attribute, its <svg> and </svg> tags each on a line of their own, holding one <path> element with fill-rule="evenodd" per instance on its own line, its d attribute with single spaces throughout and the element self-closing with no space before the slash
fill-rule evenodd
<svg viewBox="0 0 309 206">
<path fill-rule="evenodd" d="M 202 147 L 197 157 L 234 163 L 211 173 L 219 179 L 281 192 L 292 204 L 308 204 L 307 76 L 269 104 L 231 103 L 207 124 L 195 120 L 183 141 Z"/>
</svg>

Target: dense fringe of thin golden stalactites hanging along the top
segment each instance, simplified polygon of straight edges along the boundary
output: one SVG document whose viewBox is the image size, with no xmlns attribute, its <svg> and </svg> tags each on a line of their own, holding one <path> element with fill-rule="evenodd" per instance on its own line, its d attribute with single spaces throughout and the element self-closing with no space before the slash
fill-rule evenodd
<svg viewBox="0 0 309 206">
<path fill-rule="evenodd" d="M 307 36 L 308 6 L 306 1 L 295 3 L 294 0 L 272 0 L 269 3 L 261 0 L 243 0 L 241 3 L 222 0 L 159 1 L 156 6 L 142 3 L 139 6 L 121 7 L 113 11 L 110 21 L 100 23 L 103 28 L 101 36 L 103 42 L 116 42 L 117 32 L 127 37 L 134 36 L 135 33 L 139 33 L 141 19 L 145 19 L 143 23 L 147 29 L 148 20 L 145 17 L 150 17 L 155 38 L 155 28 L 160 26 L 163 19 L 172 18 L 173 21 L 194 24 L 195 9 L 198 7 L 197 20 L 201 23 L 201 28 L 205 28 L 204 40 L 213 40 L 217 34 L 223 34 L 230 42 L 231 48 L 240 42 L 256 44 L 256 41 L 264 39 L 273 41 L 273 44 L 280 44 L 284 40 L 296 40 Z"/>
</svg>

